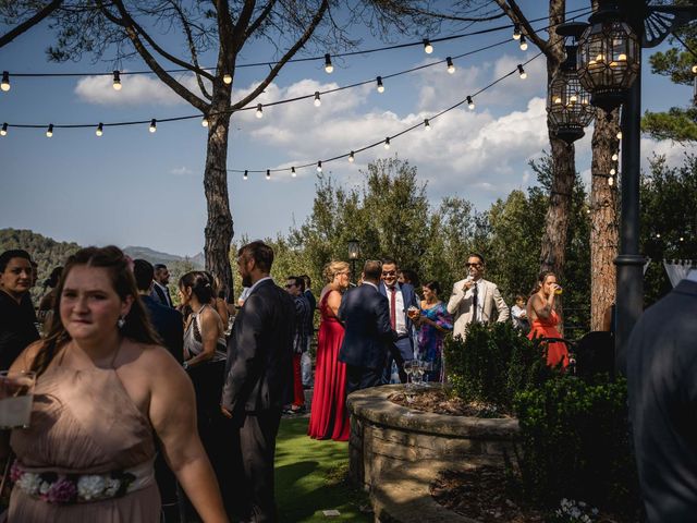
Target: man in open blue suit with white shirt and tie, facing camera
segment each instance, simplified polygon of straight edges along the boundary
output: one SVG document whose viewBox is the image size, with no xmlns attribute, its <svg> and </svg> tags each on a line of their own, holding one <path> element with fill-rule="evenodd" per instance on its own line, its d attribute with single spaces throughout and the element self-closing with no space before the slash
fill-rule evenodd
<svg viewBox="0 0 697 523">
<path fill-rule="evenodd" d="M 382 260 L 382 281 L 380 282 L 380 294 L 389 302 L 390 325 L 396 332 L 396 339 L 390 345 L 384 376 L 382 381 L 390 382 L 392 376 L 392 362 L 396 363 L 400 373 L 400 381 L 406 384 L 406 373 L 404 362 L 414 360 L 414 325 L 408 317 L 409 307 L 418 308 L 418 301 L 414 287 L 411 283 L 398 282 L 398 266 L 393 259 Z"/>
</svg>

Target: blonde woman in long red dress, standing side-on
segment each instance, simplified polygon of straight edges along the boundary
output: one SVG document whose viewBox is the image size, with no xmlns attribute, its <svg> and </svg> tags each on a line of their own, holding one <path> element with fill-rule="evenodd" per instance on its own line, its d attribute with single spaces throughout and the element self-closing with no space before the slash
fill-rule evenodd
<svg viewBox="0 0 697 523">
<path fill-rule="evenodd" d="M 315 391 L 307 434 L 315 439 L 348 441 L 346 366 L 339 361 L 344 327 L 337 318 L 341 295 L 348 288 L 348 264 L 331 262 L 325 268 L 327 285 L 319 297 L 319 333 Z"/>
</svg>

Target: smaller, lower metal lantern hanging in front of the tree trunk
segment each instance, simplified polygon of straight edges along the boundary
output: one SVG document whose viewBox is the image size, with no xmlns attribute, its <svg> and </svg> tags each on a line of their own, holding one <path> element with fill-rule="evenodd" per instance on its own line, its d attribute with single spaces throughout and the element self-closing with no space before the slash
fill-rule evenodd
<svg viewBox="0 0 697 523">
<path fill-rule="evenodd" d="M 566 46 L 566 60 L 552 77 L 547 93 L 547 113 L 558 138 L 567 144 L 584 136 L 595 118 L 590 94 L 584 89 L 576 71 L 576 46 Z"/>
</svg>

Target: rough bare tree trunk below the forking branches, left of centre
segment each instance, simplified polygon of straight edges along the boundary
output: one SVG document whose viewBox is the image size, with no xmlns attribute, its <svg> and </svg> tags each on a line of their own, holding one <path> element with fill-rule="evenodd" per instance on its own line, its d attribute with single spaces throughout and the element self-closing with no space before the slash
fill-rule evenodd
<svg viewBox="0 0 697 523">
<path fill-rule="evenodd" d="M 225 296 L 233 295 L 230 267 L 230 243 L 233 235 L 230 198 L 228 196 L 228 134 L 230 129 L 229 106 L 221 102 L 211 107 L 208 118 L 208 144 L 204 191 L 208 209 L 206 222 L 206 269 L 220 279 Z"/>
</svg>

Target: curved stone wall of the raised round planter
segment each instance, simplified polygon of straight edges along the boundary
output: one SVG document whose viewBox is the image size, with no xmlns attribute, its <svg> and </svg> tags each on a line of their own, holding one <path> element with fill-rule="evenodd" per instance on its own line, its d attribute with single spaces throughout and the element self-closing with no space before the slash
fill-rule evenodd
<svg viewBox="0 0 697 523">
<path fill-rule="evenodd" d="M 352 393 L 350 474 L 369 489 L 383 471 L 421 460 L 460 463 L 467 457 L 503 463 L 504 451 L 518 439 L 516 419 L 432 414 L 391 402 L 403 385 L 387 385 Z"/>
</svg>

